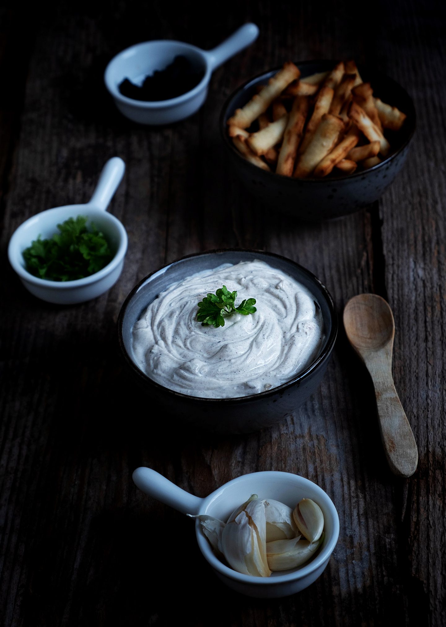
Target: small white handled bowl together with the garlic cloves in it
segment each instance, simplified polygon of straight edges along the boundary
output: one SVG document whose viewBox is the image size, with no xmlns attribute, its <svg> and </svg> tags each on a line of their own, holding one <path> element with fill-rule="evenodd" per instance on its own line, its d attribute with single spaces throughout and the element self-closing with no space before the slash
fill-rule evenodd
<svg viewBox="0 0 446 627">
<path fill-rule="evenodd" d="M 310 586 L 339 536 L 331 498 L 292 473 L 242 475 L 206 498 L 151 468 L 137 468 L 133 480 L 151 497 L 194 518 L 198 546 L 216 576 L 247 596 L 279 598 Z"/>
</svg>

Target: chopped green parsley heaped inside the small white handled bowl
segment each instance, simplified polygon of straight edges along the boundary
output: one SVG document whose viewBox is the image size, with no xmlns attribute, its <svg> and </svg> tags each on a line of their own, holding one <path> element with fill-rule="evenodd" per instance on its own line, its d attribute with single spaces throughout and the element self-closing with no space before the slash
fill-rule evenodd
<svg viewBox="0 0 446 627">
<path fill-rule="evenodd" d="M 113 259 L 109 243 L 87 217 L 68 218 L 58 224 L 50 240 L 38 236 L 23 251 L 26 270 L 51 281 L 73 281 L 102 270 Z"/>
</svg>

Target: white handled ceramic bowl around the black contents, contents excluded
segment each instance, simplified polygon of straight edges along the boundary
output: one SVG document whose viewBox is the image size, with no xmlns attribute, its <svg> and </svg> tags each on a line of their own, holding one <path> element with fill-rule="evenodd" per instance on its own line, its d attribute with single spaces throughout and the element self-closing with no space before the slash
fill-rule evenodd
<svg viewBox="0 0 446 627">
<path fill-rule="evenodd" d="M 243 24 L 227 40 L 213 50 L 201 50 L 189 43 L 173 40 L 144 41 L 116 55 L 107 65 L 104 74 L 105 87 L 114 98 L 115 105 L 125 117 L 139 124 L 172 124 L 193 115 L 206 100 L 208 85 L 213 71 L 231 56 L 246 48 L 257 39 L 258 27 Z M 203 70 L 201 81 L 189 92 L 169 100 L 145 102 L 127 98 L 119 91 L 125 78 L 141 84 L 155 70 L 164 70 L 177 55 L 188 58 L 194 66 Z"/>
</svg>

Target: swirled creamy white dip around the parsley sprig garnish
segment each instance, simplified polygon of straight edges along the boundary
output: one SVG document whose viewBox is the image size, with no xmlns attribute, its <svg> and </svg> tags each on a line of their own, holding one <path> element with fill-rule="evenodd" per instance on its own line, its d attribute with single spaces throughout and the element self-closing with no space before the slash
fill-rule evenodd
<svg viewBox="0 0 446 627">
<path fill-rule="evenodd" d="M 236 307 L 257 300 L 257 312 L 201 325 L 197 303 L 226 285 Z M 324 338 L 315 298 L 263 261 L 221 265 L 173 283 L 132 329 L 135 361 L 162 386 L 204 398 L 236 398 L 280 386 L 309 366 Z"/>
</svg>

